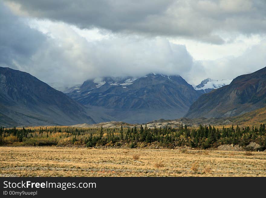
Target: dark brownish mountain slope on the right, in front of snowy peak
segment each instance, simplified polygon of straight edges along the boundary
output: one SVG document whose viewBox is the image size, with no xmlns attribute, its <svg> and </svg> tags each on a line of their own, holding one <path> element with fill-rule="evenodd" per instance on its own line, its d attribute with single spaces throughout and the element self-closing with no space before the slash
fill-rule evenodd
<svg viewBox="0 0 266 198">
<path fill-rule="evenodd" d="M 185 117 L 212 118 L 242 115 L 266 105 L 266 67 L 235 78 L 229 85 L 203 94 Z"/>
</svg>

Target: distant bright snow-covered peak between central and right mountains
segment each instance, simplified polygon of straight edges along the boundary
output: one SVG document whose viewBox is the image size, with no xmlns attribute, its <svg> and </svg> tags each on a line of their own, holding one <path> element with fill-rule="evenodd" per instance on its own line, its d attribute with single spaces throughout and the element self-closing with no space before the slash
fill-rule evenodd
<svg viewBox="0 0 266 198">
<path fill-rule="evenodd" d="M 225 85 L 229 85 L 232 82 L 232 80 L 212 80 L 210 78 L 207 78 L 203 81 L 201 81 L 200 84 L 194 87 L 195 90 L 204 90 L 205 93 L 209 93 L 214 89 L 221 88 Z"/>
</svg>

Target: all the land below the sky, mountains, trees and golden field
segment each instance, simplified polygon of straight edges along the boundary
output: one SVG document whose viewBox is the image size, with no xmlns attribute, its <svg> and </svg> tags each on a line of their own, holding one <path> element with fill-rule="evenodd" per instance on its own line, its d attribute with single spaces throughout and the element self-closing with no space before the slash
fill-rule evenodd
<svg viewBox="0 0 266 198">
<path fill-rule="evenodd" d="M 265 70 L 196 87 L 106 77 L 64 94 L 0 68 L 0 176 L 264 177 Z"/>
</svg>

